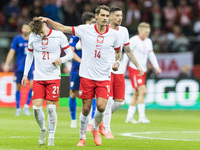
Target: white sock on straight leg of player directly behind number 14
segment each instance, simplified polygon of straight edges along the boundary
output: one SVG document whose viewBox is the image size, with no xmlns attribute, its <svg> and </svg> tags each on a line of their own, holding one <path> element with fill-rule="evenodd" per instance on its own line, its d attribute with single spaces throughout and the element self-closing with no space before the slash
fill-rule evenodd
<svg viewBox="0 0 200 150">
<path fill-rule="evenodd" d="M 106 109 L 104 111 L 104 117 L 103 117 L 103 123 L 104 123 L 104 128 L 105 128 L 105 133 L 107 133 L 110 130 L 110 121 L 111 121 L 111 106 L 112 106 L 112 101 L 113 98 L 109 97 L 108 103 L 106 105 Z"/>
</svg>

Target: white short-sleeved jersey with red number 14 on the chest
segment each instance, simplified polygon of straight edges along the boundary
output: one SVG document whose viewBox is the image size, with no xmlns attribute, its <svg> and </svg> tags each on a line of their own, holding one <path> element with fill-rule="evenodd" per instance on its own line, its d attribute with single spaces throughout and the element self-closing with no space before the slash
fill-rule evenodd
<svg viewBox="0 0 200 150">
<path fill-rule="evenodd" d="M 120 49 L 117 31 L 107 26 L 105 33 L 101 34 L 96 24 L 80 25 L 72 29 L 73 35 L 78 36 L 82 43 L 79 75 L 96 81 L 110 80 L 113 51 Z"/>
</svg>

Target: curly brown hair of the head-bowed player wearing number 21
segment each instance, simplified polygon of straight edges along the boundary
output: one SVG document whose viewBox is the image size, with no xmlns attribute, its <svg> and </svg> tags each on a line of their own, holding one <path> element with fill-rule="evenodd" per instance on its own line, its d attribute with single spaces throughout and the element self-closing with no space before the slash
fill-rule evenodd
<svg viewBox="0 0 200 150">
<path fill-rule="evenodd" d="M 40 35 L 43 29 L 43 22 L 38 17 L 34 17 L 33 20 L 29 23 L 31 32 Z"/>
</svg>

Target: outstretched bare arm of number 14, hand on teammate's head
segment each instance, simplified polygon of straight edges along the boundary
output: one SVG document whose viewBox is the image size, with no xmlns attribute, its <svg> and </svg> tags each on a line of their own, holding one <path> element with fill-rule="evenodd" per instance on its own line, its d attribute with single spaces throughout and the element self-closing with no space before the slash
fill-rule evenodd
<svg viewBox="0 0 200 150">
<path fill-rule="evenodd" d="M 52 26 L 54 29 L 62 31 L 64 33 L 72 34 L 72 27 L 70 26 L 64 26 L 61 23 L 55 22 L 49 18 L 46 17 L 39 17 L 43 22 L 48 23 L 50 26 Z"/>
</svg>

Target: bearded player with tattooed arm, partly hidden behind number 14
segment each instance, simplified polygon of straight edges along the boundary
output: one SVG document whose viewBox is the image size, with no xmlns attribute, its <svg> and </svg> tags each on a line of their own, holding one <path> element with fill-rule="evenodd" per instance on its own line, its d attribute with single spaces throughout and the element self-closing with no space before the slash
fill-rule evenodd
<svg viewBox="0 0 200 150">
<path fill-rule="evenodd" d="M 122 10 L 120 8 L 112 7 L 110 9 L 110 27 L 120 34 L 121 51 L 124 49 L 130 61 L 139 67 L 139 64 L 137 63 L 129 46 L 130 42 L 128 30 L 127 28 L 120 26 L 122 23 L 122 18 Z M 114 57 L 112 61 L 114 62 Z M 104 114 L 105 138 L 114 138 L 110 129 L 111 115 L 124 105 L 125 81 L 122 67 L 123 65 L 121 61 L 118 71 L 112 71 L 111 73 L 110 97 Z"/>
</svg>

